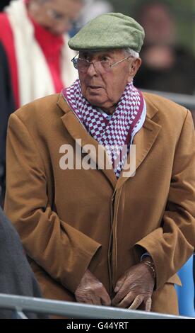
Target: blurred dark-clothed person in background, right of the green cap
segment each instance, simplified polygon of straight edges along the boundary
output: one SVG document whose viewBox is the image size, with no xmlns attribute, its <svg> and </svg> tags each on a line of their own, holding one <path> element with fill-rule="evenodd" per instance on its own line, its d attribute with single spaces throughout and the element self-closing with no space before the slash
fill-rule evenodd
<svg viewBox="0 0 195 333">
<path fill-rule="evenodd" d="M 195 59 L 176 43 L 175 18 L 163 1 L 144 1 L 137 20 L 146 32 L 142 66 L 134 84 L 142 89 L 195 93 Z"/>
</svg>

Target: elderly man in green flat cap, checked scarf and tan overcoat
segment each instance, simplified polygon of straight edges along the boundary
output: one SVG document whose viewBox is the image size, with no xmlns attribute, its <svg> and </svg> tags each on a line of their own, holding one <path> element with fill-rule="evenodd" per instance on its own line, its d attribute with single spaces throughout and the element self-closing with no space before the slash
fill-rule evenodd
<svg viewBox="0 0 195 333">
<path fill-rule="evenodd" d="M 5 206 L 46 298 L 177 314 L 176 273 L 194 250 L 194 127 L 134 87 L 143 38 L 121 13 L 71 38 L 79 79 L 11 115 Z"/>
</svg>

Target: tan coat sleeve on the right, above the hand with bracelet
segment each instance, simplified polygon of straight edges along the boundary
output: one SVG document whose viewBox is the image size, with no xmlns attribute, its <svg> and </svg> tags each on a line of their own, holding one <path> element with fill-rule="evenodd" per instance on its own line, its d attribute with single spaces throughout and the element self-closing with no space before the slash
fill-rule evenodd
<svg viewBox="0 0 195 333">
<path fill-rule="evenodd" d="M 137 242 L 134 249 L 140 255 L 144 248 L 152 256 L 156 269 L 156 288 L 160 288 L 191 256 L 194 244 L 195 135 L 191 113 L 187 111 L 175 151 L 162 224 Z"/>
</svg>

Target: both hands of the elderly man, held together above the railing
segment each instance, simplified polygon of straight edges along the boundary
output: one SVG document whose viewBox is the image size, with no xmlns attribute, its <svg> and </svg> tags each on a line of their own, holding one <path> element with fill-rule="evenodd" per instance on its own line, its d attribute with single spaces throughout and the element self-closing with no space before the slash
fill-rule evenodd
<svg viewBox="0 0 195 333">
<path fill-rule="evenodd" d="M 150 311 L 151 296 L 155 278 L 144 260 L 128 269 L 117 281 L 115 296 L 111 300 L 102 283 L 89 270 L 85 271 L 76 288 L 75 297 L 79 303 L 107 305 Z"/>
</svg>

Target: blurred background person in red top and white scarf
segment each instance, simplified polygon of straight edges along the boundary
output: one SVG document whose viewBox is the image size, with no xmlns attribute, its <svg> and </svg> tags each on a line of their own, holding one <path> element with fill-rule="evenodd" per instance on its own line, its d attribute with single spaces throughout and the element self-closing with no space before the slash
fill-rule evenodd
<svg viewBox="0 0 195 333">
<path fill-rule="evenodd" d="M 0 13 L 16 108 L 76 79 L 67 42 L 82 6 L 82 0 L 15 0 Z"/>
</svg>

